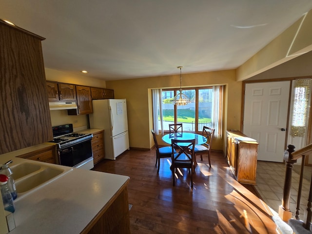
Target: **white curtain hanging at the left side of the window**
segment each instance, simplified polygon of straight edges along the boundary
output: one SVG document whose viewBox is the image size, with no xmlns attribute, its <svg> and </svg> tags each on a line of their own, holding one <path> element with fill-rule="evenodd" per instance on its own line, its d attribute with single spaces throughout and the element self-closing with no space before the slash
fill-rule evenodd
<svg viewBox="0 0 312 234">
<path fill-rule="evenodd" d="M 159 126 L 158 126 L 158 113 L 160 115 L 160 127 L 161 127 L 161 134 L 163 135 L 163 121 L 162 121 L 162 100 L 161 100 L 161 89 L 152 89 L 153 95 L 153 125 L 154 131 L 156 135 L 159 134 Z"/>
</svg>

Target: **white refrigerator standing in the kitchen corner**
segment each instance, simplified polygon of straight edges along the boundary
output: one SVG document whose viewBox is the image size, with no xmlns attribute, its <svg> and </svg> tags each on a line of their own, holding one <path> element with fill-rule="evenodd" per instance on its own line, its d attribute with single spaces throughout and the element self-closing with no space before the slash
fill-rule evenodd
<svg viewBox="0 0 312 234">
<path fill-rule="evenodd" d="M 129 149 L 126 99 L 93 100 L 90 128 L 104 129 L 105 158 L 115 160 Z"/>
</svg>

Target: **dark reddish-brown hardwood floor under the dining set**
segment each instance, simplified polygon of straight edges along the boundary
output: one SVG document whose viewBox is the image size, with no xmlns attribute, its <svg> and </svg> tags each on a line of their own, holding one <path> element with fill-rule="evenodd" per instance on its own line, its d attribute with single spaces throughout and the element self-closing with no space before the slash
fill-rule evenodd
<svg viewBox="0 0 312 234">
<path fill-rule="evenodd" d="M 173 186 L 170 159 L 160 159 L 157 174 L 155 150 L 129 150 L 93 170 L 130 176 L 132 234 L 276 233 L 268 207 L 234 179 L 224 156 L 212 152 L 211 169 L 203 157 L 197 159 L 193 190 L 185 169 Z"/>
</svg>

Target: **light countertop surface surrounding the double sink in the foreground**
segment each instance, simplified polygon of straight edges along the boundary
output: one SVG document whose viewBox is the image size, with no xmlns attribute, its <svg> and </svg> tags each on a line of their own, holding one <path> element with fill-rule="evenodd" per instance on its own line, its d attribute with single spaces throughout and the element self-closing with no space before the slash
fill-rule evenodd
<svg viewBox="0 0 312 234">
<path fill-rule="evenodd" d="M 44 148 L 44 144 L 31 148 L 36 150 L 41 147 Z M 28 153 L 28 150 L 1 155 L 1 162 L 10 159 L 14 164 L 26 160 L 30 162 L 28 159 L 14 158 L 16 154 Z M 78 234 L 128 181 L 128 176 L 74 168 L 15 201 L 16 228 L 10 234 Z"/>
</svg>

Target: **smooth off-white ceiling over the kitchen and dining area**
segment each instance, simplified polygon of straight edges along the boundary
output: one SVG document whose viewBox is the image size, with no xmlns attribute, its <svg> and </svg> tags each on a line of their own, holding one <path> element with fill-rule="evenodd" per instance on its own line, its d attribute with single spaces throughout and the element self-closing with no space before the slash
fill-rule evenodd
<svg viewBox="0 0 312 234">
<path fill-rule="evenodd" d="M 0 19 L 46 38 L 45 67 L 104 80 L 233 69 L 312 0 L 1 0 Z"/>
</svg>

